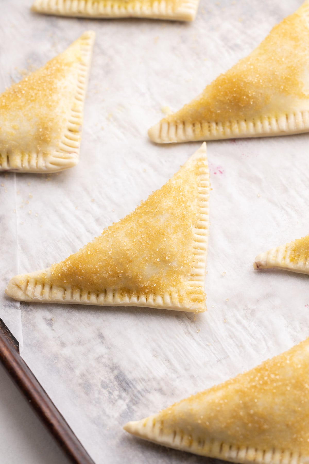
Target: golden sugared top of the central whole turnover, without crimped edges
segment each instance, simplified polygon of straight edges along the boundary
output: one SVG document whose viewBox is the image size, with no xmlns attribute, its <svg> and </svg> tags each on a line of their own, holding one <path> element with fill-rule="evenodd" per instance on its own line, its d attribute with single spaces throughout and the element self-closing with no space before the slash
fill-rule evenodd
<svg viewBox="0 0 309 464">
<path fill-rule="evenodd" d="M 203 289 L 192 294 L 188 288 L 191 269 L 198 259 L 192 244 L 199 220 L 196 179 L 202 164 L 181 169 L 135 211 L 74 255 L 51 266 L 44 281 L 90 291 L 100 291 L 104 283 L 124 294 L 163 295 L 166 289 L 182 289 L 181 302 L 189 298 L 203 304 Z"/>
</svg>

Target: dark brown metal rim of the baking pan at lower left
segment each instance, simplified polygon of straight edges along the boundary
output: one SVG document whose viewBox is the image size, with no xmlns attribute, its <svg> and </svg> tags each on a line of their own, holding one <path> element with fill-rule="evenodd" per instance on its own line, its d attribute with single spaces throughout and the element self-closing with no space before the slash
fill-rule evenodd
<svg viewBox="0 0 309 464">
<path fill-rule="evenodd" d="M 19 354 L 19 342 L 0 319 L 0 362 L 74 464 L 95 464 Z"/>
</svg>

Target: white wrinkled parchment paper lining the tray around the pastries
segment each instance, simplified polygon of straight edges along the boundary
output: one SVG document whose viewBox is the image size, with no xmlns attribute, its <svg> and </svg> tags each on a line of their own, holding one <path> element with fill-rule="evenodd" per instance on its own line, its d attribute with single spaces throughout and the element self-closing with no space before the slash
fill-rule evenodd
<svg viewBox="0 0 309 464">
<path fill-rule="evenodd" d="M 308 277 L 252 269 L 260 251 L 309 232 L 309 135 L 208 143 L 207 313 L 19 309 L 3 290 L 9 277 L 65 258 L 161 187 L 200 146 L 151 144 L 146 131 L 161 108 L 198 95 L 301 2 L 201 0 L 192 24 L 54 18 L 30 13 L 30 4 L 0 0 L 0 90 L 83 31 L 97 38 L 80 164 L 0 174 L 0 317 L 23 337 L 23 358 L 96 463 L 205 462 L 121 427 L 309 335 Z"/>
</svg>

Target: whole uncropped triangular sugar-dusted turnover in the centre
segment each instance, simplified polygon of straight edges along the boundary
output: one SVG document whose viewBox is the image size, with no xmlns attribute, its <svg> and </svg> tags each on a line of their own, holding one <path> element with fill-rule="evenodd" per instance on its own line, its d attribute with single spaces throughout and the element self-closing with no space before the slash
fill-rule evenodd
<svg viewBox="0 0 309 464">
<path fill-rule="evenodd" d="M 206 310 L 206 143 L 163 187 L 49 269 L 15 276 L 16 300 Z"/>
</svg>

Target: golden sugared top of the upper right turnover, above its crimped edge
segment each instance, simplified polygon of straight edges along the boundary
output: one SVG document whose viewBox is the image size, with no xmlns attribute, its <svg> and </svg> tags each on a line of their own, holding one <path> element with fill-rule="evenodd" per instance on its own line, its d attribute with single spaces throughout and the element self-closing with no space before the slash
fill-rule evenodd
<svg viewBox="0 0 309 464">
<path fill-rule="evenodd" d="M 280 116 L 309 98 L 309 27 L 302 10 L 275 26 L 248 57 L 208 85 L 165 122 Z M 307 107 L 306 107 L 307 108 Z"/>
</svg>

